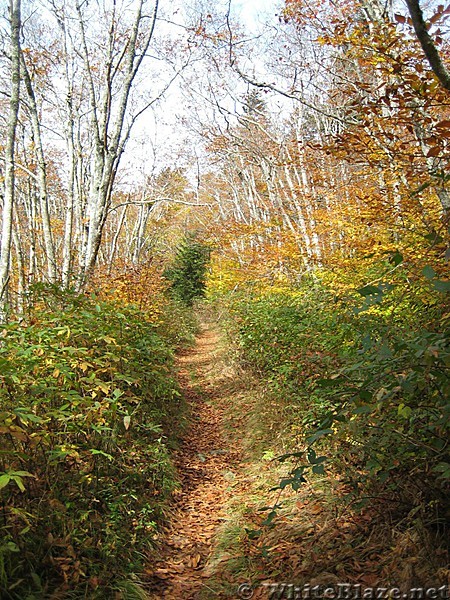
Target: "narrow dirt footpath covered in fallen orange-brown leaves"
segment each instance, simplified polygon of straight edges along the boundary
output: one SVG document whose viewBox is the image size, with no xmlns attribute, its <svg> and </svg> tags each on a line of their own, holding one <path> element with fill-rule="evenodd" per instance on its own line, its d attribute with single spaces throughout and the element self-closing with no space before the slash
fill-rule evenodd
<svg viewBox="0 0 450 600">
<path fill-rule="evenodd" d="M 208 588 L 208 561 L 227 500 L 241 485 L 239 439 L 224 431 L 224 422 L 230 420 L 230 395 L 239 382 L 220 355 L 217 331 L 205 329 L 195 348 L 178 358 L 191 425 L 175 456 L 182 483 L 175 514 L 161 543 L 160 559 L 148 570 L 155 581 L 155 600 L 220 598 Z M 232 425 L 234 432 L 239 430 L 238 418 Z"/>
</svg>

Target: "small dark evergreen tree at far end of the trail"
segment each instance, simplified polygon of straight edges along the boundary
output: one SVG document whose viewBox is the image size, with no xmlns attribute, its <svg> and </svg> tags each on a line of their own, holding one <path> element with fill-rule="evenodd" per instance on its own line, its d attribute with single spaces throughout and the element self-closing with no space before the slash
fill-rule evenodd
<svg viewBox="0 0 450 600">
<path fill-rule="evenodd" d="M 171 281 L 170 292 L 187 306 L 202 298 L 206 289 L 206 270 L 210 249 L 188 234 L 179 245 L 171 266 L 164 276 Z"/>
</svg>

